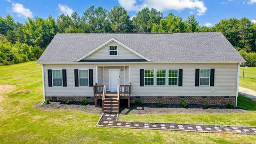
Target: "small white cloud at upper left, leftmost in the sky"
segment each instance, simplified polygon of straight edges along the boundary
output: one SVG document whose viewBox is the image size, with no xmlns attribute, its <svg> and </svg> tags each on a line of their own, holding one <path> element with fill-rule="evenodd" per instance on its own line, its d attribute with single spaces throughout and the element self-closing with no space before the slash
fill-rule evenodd
<svg viewBox="0 0 256 144">
<path fill-rule="evenodd" d="M 29 9 L 26 9 L 22 4 L 18 3 L 12 3 L 12 12 L 17 13 L 18 17 L 33 17 L 33 14 Z"/>
</svg>

